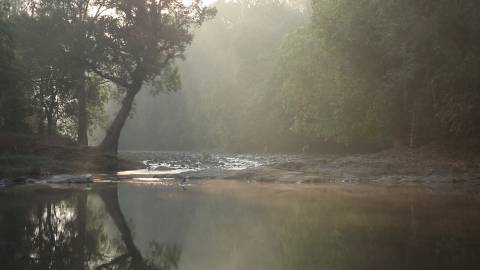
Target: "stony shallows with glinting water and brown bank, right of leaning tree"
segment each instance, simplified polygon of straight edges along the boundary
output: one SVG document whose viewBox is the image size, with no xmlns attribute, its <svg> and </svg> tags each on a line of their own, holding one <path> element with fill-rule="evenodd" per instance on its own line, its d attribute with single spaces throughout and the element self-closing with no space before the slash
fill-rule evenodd
<svg viewBox="0 0 480 270">
<path fill-rule="evenodd" d="M 460 156 L 438 146 L 396 148 L 358 155 L 135 152 L 129 153 L 129 156 L 148 158 L 144 161 L 147 168 L 124 172 L 121 176 L 123 179 L 235 179 L 251 182 L 480 188 L 480 159 Z"/>
</svg>

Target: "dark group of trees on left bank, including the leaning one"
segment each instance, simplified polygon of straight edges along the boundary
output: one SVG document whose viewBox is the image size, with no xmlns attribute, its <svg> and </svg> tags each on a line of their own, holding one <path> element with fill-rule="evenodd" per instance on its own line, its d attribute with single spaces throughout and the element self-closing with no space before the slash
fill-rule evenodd
<svg viewBox="0 0 480 270">
<path fill-rule="evenodd" d="M 178 88 L 175 59 L 216 13 L 200 1 L 4 0 L 1 9 L 0 127 L 88 145 L 117 95 L 121 108 L 99 145 L 113 155 L 135 96 L 146 85 Z"/>
</svg>

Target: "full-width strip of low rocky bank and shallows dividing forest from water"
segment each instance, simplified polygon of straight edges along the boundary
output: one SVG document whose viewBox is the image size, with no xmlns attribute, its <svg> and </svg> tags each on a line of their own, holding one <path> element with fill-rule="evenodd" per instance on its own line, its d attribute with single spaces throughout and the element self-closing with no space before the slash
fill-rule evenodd
<svg viewBox="0 0 480 270">
<path fill-rule="evenodd" d="M 464 151 L 439 145 L 356 155 L 128 151 L 116 158 L 61 137 L 0 135 L 0 153 L 0 179 L 22 181 L 56 174 L 102 174 L 99 179 L 114 181 L 236 179 L 480 189 L 480 157 L 462 156 Z"/>
</svg>

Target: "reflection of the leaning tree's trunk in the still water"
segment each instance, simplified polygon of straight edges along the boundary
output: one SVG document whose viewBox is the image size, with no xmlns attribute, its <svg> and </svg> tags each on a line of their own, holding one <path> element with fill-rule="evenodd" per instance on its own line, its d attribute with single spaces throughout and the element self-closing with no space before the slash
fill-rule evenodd
<svg viewBox="0 0 480 270">
<path fill-rule="evenodd" d="M 120 231 L 126 253 L 110 262 L 97 267 L 100 269 L 141 269 L 141 270 L 170 270 L 177 269 L 180 260 L 180 248 L 176 245 L 159 244 L 155 241 L 150 243 L 150 254 L 144 258 L 133 242 L 132 232 L 120 209 L 117 188 L 102 189 L 100 197 L 105 203 L 105 208 Z"/>
</svg>

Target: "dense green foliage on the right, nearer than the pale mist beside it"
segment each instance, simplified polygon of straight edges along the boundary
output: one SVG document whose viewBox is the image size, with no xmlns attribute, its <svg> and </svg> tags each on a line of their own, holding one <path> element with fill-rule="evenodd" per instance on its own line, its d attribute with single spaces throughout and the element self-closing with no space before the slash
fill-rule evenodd
<svg viewBox="0 0 480 270">
<path fill-rule="evenodd" d="M 295 132 L 343 144 L 479 135 L 477 2 L 316 0 L 312 9 L 283 44 L 279 72 Z"/>
</svg>

